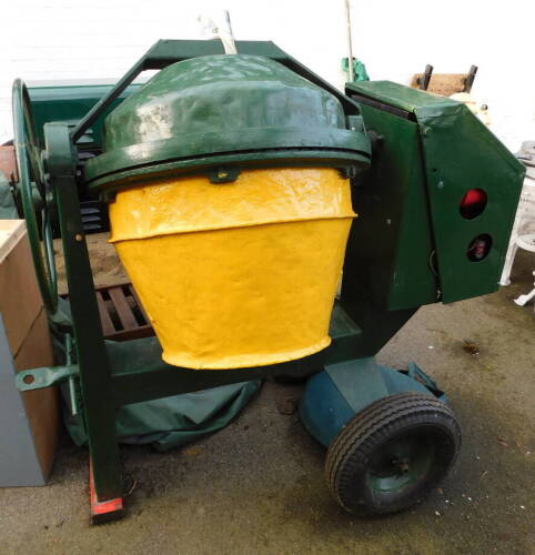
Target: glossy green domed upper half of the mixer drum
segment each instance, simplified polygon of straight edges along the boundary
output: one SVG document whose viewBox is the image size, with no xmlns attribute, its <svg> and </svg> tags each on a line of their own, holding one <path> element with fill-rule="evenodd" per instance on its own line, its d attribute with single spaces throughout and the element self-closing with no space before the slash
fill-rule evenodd
<svg viewBox="0 0 535 555">
<path fill-rule="evenodd" d="M 102 185 L 135 179 L 148 168 L 155 173 L 266 160 L 370 163 L 360 115 L 346 117 L 333 94 L 260 56 L 173 63 L 124 100 L 104 128 L 104 153 L 85 168 L 87 180 Z"/>
</svg>

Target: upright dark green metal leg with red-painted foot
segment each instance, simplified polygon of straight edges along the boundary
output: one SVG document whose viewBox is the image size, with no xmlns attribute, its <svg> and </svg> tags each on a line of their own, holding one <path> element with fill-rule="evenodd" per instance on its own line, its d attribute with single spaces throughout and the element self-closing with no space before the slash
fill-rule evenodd
<svg viewBox="0 0 535 555">
<path fill-rule="evenodd" d="M 54 175 L 58 215 L 63 242 L 69 299 L 80 369 L 83 414 L 91 457 L 93 522 L 122 514 L 122 480 L 115 433 L 115 400 L 110 365 L 102 337 L 94 283 L 83 235 L 80 203 L 74 180 L 67 125 L 47 124 L 47 150 L 50 174 Z M 70 163 L 69 163 L 70 162 Z M 114 501 L 102 505 L 102 502 Z"/>
</svg>

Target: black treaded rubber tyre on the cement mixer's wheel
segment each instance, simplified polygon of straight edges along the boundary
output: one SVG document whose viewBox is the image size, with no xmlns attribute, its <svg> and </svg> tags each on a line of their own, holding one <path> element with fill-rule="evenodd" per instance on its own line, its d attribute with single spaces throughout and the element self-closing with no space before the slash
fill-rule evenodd
<svg viewBox="0 0 535 555">
<path fill-rule="evenodd" d="M 413 444 L 425 442 L 430 453 L 422 475 L 395 491 L 374 490 L 372 461 L 392 442 L 402 442 L 411 434 Z M 444 403 L 421 393 L 390 395 L 355 414 L 334 438 L 325 462 L 329 488 L 350 513 L 396 513 L 420 503 L 436 487 L 452 468 L 460 448 L 460 425 Z"/>
</svg>

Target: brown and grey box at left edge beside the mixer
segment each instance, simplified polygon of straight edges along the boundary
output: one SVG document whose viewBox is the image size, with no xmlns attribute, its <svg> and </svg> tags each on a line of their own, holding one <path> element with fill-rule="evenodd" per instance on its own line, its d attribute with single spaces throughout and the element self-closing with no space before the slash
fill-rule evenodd
<svg viewBox="0 0 535 555">
<path fill-rule="evenodd" d="M 0 220 L 0 486 L 44 485 L 58 446 L 58 391 L 21 395 L 13 377 L 53 364 L 23 220 Z"/>
</svg>

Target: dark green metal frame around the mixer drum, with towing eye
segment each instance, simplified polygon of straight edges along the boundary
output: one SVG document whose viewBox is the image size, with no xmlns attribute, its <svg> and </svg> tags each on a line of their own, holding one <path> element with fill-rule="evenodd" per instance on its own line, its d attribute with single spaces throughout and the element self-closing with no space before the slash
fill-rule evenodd
<svg viewBox="0 0 535 555">
<path fill-rule="evenodd" d="M 268 56 L 284 63 L 299 74 L 332 92 L 341 100 L 350 114 L 359 113 L 359 108 L 354 102 L 311 73 L 273 43 L 239 42 L 238 46 L 241 52 Z M 21 390 L 28 391 L 73 377 L 79 380 L 94 488 L 99 502 L 122 496 L 115 436 L 118 407 L 129 403 L 244 380 L 272 380 L 279 375 L 310 375 L 321 371 L 326 363 L 363 356 L 370 350 L 375 352 L 390 339 L 392 330 L 397 330 L 410 316 L 408 313 L 402 317 L 397 314 L 385 313 L 382 319 L 375 317 L 366 329 L 367 340 L 360 342 L 356 340 L 362 335 L 362 330 L 339 305 L 333 311 L 331 329 L 333 342 L 330 347 L 322 353 L 299 361 L 255 369 L 228 371 L 176 369 L 162 362 L 161 347 L 155 337 L 124 343 L 104 342 L 80 215 L 75 175 L 78 154 L 73 144 L 88 132 L 91 125 L 99 121 L 141 71 L 161 69 L 190 57 L 212 53 L 222 53 L 219 41 L 160 41 L 103 99 L 94 104 L 73 130 L 72 124 L 69 124 L 68 121 L 44 124 L 44 152 L 47 153 L 50 188 L 54 191 L 54 202 L 61 229 L 75 363 L 55 369 L 24 371 L 19 375 L 18 384 Z M 26 107 L 20 103 L 16 104 L 16 119 L 18 113 L 29 111 L 28 99 L 26 102 Z M 21 152 L 23 152 L 22 149 Z M 21 168 L 23 167 L 22 161 Z M 32 219 L 30 212 L 30 210 L 27 211 L 29 221 Z M 38 234 L 31 235 L 31 242 L 39 246 Z M 39 268 L 39 264 L 40 259 L 36 258 L 36 266 Z M 49 313 L 52 314 L 54 312 L 53 305 L 50 305 L 50 309 Z M 372 336 L 374 341 L 370 342 Z"/>
</svg>

